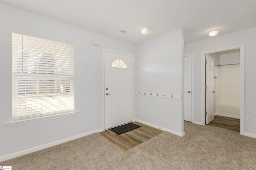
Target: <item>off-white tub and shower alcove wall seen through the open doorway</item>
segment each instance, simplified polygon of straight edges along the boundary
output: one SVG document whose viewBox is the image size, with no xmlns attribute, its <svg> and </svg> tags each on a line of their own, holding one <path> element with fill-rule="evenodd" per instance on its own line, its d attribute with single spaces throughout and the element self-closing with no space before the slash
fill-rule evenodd
<svg viewBox="0 0 256 170">
<path fill-rule="evenodd" d="M 240 63 L 240 52 L 220 55 L 220 65 Z M 216 114 L 240 117 L 240 66 L 218 66 Z"/>
</svg>

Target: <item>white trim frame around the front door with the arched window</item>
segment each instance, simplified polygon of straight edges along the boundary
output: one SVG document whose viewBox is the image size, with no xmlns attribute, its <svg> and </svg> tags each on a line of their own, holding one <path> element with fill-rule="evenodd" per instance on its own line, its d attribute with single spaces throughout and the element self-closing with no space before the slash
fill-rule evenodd
<svg viewBox="0 0 256 170">
<path fill-rule="evenodd" d="M 110 49 L 102 49 L 102 129 L 105 130 L 105 52 L 110 52 L 110 53 L 116 53 L 116 54 L 120 54 L 120 55 L 126 55 L 131 57 L 132 59 L 132 90 L 131 90 L 131 94 L 132 94 L 132 121 L 134 121 L 134 62 L 133 62 L 133 58 L 134 56 L 131 54 L 127 54 L 127 53 L 122 53 L 119 51 L 114 51 L 114 50 L 110 50 Z"/>
</svg>

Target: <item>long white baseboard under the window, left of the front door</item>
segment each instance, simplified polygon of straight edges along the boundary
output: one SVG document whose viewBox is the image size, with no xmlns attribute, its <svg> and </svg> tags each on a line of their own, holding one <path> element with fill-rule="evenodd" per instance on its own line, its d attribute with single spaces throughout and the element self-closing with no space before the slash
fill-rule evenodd
<svg viewBox="0 0 256 170">
<path fill-rule="evenodd" d="M 97 129 L 97 130 L 94 130 L 94 131 L 82 133 L 80 135 L 75 135 L 75 136 L 72 136 L 72 137 L 61 139 L 59 141 L 54 141 L 54 142 L 47 143 L 47 144 L 44 144 L 44 145 L 40 145 L 40 146 L 37 146 L 37 147 L 33 147 L 33 148 L 30 148 L 30 149 L 26 149 L 26 150 L 22 150 L 22 151 L 19 151 L 19 152 L 12 153 L 12 154 L 0 156 L 0 162 L 2 162 L 4 160 L 16 158 L 16 157 L 22 156 L 24 154 L 29 154 L 29 153 L 32 153 L 32 152 L 36 152 L 38 150 L 42 150 L 42 149 L 46 149 L 46 148 L 49 148 L 49 147 L 53 147 L 55 145 L 59 145 L 59 144 L 62 144 L 62 143 L 68 142 L 68 141 L 72 141 L 74 139 L 78 139 L 80 137 L 91 135 L 92 133 L 98 133 L 98 132 L 102 132 L 102 131 L 103 131 L 103 129 L 101 128 L 101 129 Z"/>
</svg>

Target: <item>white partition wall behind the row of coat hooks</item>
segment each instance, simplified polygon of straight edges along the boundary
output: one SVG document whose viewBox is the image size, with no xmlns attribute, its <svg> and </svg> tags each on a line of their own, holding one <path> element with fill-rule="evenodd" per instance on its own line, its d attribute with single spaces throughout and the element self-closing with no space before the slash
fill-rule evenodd
<svg viewBox="0 0 256 170">
<path fill-rule="evenodd" d="M 136 92 L 182 94 L 184 33 L 178 29 L 137 45 Z M 135 96 L 136 119 L 181 135 L 184 117 L 181 99 Z"/>
</svg>

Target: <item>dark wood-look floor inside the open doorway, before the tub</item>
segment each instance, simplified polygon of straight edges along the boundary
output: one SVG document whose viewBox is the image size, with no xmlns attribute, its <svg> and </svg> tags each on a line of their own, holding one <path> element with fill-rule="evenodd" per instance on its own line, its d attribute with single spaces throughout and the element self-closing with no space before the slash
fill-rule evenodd
<svg viewBox="0 0 256 170">
<path fill-rule="evenodd" d="M 214 120 L 208 125 L 240 132 L 240 119 L 215 115 Z"/>
</svg>

